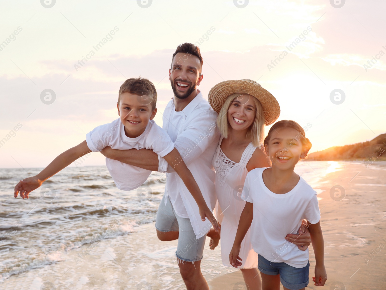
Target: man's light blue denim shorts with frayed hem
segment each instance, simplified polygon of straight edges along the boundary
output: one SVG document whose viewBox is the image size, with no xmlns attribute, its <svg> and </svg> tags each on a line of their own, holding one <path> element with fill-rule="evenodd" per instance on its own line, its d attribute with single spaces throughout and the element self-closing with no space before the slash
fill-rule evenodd
<svg viewBox="0 0 386 290">
<path fill-rule="evenodd" d="M 178 231 L 178 245 L 176 256 L 179 260 L 196 262 L 203 258 L 205 238 L 207 235 L 196 239 L 190 219 L 179 217 L 173 209 L 169 197 L 165 196 L 158 207 L 156 217 L 156 229 L 160 232 Z"/>
</svg>

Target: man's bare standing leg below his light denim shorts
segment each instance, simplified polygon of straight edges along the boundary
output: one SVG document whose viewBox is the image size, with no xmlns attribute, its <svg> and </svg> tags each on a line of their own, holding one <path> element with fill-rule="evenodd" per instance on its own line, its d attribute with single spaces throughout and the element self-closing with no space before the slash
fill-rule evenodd
<svg viewBox="0 0 386 290">
<path fill-rule="evenodd" d="M 186 262 L 177 258 L 179 273 L 185 282 L 187 290 L 209 290 L 208 283 L 201 273 L 201 261 Z"/>
</svg>

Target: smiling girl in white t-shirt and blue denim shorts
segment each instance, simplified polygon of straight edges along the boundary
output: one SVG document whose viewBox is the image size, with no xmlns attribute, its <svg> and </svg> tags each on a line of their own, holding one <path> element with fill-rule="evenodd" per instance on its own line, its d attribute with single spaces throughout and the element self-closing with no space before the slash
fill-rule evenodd
<svg viewBox="0 0 386 290">
<path fill-rule="evenodd" d="M 283 233 L 295 233 L 303 218 L 308 220 L 315 252 L 316 286 L 327 280 L 324 266 L 324 244 L 320 228 L 317 193 L 293 170 L 305 158 L 311 142 L 303 128 L 294 121 L 275 123 L 264 140 L 272 167 L 251 170 L 245 179 L 242 198 L 246 201 L 229 262 L 241 266 L 242 240 L 251 227 L 251 242 L 258 254 L 262 289 L 305 289 L 310 263 L 308 250 L 301 252 L 284 239 Z"/>
</svg>

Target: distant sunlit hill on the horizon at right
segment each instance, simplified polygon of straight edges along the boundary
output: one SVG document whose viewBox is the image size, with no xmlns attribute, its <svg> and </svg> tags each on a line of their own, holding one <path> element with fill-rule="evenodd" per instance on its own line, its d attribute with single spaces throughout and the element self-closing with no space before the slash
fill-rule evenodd
<svg viewBox="0 0 386 290">
<path fill-rule="evenodd" d="M 308 160 L 386 160 L 386 133 L 371 141 L 345 146 L 334 146 L 308 154 Z"/>
</svg>

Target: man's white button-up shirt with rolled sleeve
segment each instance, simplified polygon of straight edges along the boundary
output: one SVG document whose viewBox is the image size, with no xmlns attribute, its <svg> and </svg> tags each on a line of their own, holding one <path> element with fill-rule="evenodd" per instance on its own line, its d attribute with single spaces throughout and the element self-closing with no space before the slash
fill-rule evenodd
<svg viewBox="0 0 386 290">
<path fill-rule="evenodd" d="M 216 119 L 217 113 L 201 93 L 179 112 L 175 111 L 172 99 L 163 115 L 164 130 L 174 142 L 174 146 L 200 187 L 208 207 L 212 210 L 217 199 L 212 160 L 220 139 Z M 176 214 L 190 219 L 197 239 L 208 233 L 212 224 L 208 219 L 201 221 L 198 205 L 193 196 L 162 157 L 159 157 L 159 172 L 167 172 L 165 197 L 169 197 Z"/>
</svg>

